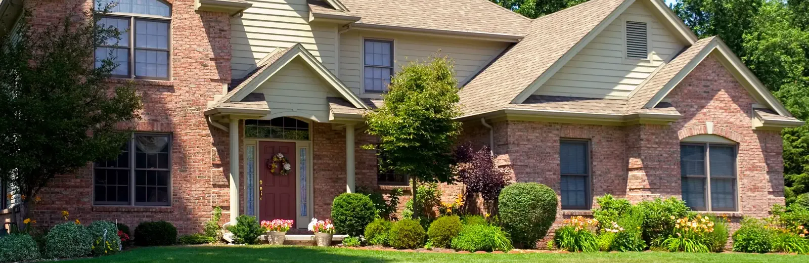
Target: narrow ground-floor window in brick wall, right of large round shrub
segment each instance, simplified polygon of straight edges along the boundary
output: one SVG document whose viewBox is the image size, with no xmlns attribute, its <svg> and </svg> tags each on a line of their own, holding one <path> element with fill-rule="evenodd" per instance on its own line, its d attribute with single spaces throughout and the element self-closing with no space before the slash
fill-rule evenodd
<svg viewBox="0 0 809 263">
<path fill-rule="evenodd" d="M 559 143 L 562 209 L 590 209 L 589 148 L 587 141 L 568 140 Z"/>
</svg>

